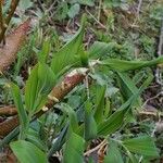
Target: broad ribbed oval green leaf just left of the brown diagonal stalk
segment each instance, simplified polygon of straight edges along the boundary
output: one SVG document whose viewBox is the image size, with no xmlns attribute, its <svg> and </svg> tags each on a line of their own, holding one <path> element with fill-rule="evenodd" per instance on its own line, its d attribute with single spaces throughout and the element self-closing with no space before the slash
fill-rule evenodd
<svg viewBox="0 0 163 163">
<path fill-rule="evenodd" d="M 55 75 L 45 63 L 38 63 L 25 85 L 25 104 L 32 114 L 45 105 L 47 97 L 55 84 Z"/>
</svg>

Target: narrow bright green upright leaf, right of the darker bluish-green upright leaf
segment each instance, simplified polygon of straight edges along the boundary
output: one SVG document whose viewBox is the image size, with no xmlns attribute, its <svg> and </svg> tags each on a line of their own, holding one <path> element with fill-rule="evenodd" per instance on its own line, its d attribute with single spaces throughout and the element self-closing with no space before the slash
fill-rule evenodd
<svg viewBox="0 0 163 163">
<path fill-rule="evenodd" d="M 101 123 L 104 113 L 104 95 L 106 86 L 98 86 L 96 92 L 95 120 L 97 124 Z"/>
</svg>

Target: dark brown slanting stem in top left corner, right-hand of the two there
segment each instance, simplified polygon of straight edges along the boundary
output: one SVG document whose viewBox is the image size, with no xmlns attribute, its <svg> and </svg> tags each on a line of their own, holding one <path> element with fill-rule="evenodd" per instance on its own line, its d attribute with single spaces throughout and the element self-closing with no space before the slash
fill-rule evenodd
<svg viewBox="0 0 163 163">
<path fill-rule="evenodd" d="M 13 16 L 15 10 L 16 10 L 16 7 L 18 5 L 18 2 L 20 2 L 20 0 L 12 0 L 12 2 L 10 4 L 10 9 L 8 11 L 8 16 L 4 20 L 4 23 L 3 23 L 4 25 L 3 25 L 3 28 L 1 29 L 1 33 L 0 33 L 0 42 L 2 40 L 4 40 L 4 34 L 7 32 L 8 25 L 10 23 L 12 16 Z"/>
</svg>

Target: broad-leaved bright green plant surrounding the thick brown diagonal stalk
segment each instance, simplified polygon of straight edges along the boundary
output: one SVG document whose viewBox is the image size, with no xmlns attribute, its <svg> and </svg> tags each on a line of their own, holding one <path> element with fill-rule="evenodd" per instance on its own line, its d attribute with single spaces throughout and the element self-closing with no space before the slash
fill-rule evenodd
<svg viewBox="0 0 163 163">
<path fill-rule="evenodd" d="M 130 120 L 134 118 L 133 112 L 140 102 L 140 93 L 151 82 L 149 76 L 146 80 L 142 78 L 141 83 L 142 80 L 145 82 L 138 88 L 127 72 L 156 65 L 163 62 L 163 58 L 153 59 L 152 61 L 123 61 L 117 59 L 98 61 L 97 66 L 106 66 L 108 70 L 115 73 L 120 83 L 120 89 L 124 96 L 122 105 L 116 110 L 110 110 L 105 101 L 109 98 L 105 97 L 105 91 L 109 89 L 106 88 L 108 85 L 98 86 L 95 83 L 93 87 L 97 87 L 97 96 L 85 97 L 86 102 L 79 109 L 72 109 L 70 105 L 61 103 L 60 112 L 62 114 L 61 117 L 58 115 L 57 120 L 62 118 L 64 125 L 61 125 L 57 133 L 52 128 L 49 130 L 50 133 L 53 130 L 55 135 L 50 146 L 48 146 L 48 140 L 42 142 L 42 135 L 38 134 L 42 127 L 40 126 L 40 129 L 37 128 L 37 130 L 33 128 L 35 123 L 41 121 L 36 118 L 38 117 L 37 113 L 45 108 L 48 95 L 59 79 L 73 67 L 85 65 L 89 70 L 89 66 L 93 66 L 91 65 L 93 49 L 90 48 L 91 51 L 84 51 L 82 45 L 85 29 L 84 22 L 72 40 L 53 54 L 50 66 L 46 63 L 49 45 L 45 42 L 43 49 L 47 50 L 42 49 L 42 52 L 39 53 L 38 64 L 30 72 L 25 85 L 24 95 L 22 95 L 15 84 L 11 84 L 20 118 L 18 140 L 10 143 L 11 149 L 18 161 L 23 163 L 28 162 L 28 158 L 30 158 L 30 162 L 48 162 L 48 156 L 51 156 L 61 149 L 63 149 L 63 162 L 84 162 L 84 151 L 89 147 L 91 140 L 101 138 L 105 139 L 109 148 L 104 159 L 105 162 L 111 160 L 121 160 L 123 162 L 123 160 L 127 159 L 126 155 L 128 155 L 131 162 L 137 162 L 136 160 L 139 160 L 141 155 L 146 159 L 158 158 L 159 152 L 151 136 L 142 135 L 125 138 L 117 136 L 117 131 L 123 130 L 130 123 Z M 100 51 L 96 51 L 95 55 L 98 52 Z M 89 55 L 91 58 L 88 60 Z M 93 95 L 92 92 L 90 92 L 90 96 Z M 58 100 L 60 99 L 55 99 L 55 101 Z M 77 115 L 78 112 L 83 115 L 82 117 Z M 42 122 L 41 125 L 43 125 Z M 54 126 L 59 126 L 59 124 L 55 123 Z M 50 133 L 47 134 L 50 136 Z M 53 142 L 53 140 L 55 141 Z M 117 154 L 118 158 L 111 154 L 112 152 Z"/>
</svg>

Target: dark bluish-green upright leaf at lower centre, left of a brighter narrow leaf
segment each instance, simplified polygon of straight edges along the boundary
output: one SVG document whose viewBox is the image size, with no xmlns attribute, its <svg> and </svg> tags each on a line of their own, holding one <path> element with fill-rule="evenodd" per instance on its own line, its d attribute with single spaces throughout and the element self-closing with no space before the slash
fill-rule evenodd
<svg viewBox="0 0 163 163">
<path fill-rule="evenodd" d="M 85 104 L 85 139 L 91 140 L 97 136 L 97 123 L 93 117 L 92 104 L 88 101 Z"/>
</svg>

